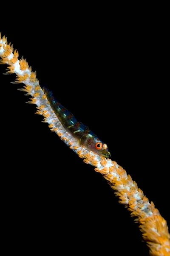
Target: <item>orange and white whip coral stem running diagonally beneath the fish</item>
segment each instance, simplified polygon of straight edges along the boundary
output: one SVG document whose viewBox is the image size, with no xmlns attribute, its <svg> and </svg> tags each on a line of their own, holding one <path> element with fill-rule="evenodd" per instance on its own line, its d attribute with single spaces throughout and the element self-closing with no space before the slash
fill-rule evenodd
<svg viewBox="0 0 170 256">
<path fill-rule="evenodd" d="M 7 38 L 1 38 L 0 34 L 0 63 L 8 65 L 7 73 L 15 73 L 17 78 L 13 83 L 25 84 L 23 90 L 26 95 L 31 96 L 30 104 L 37 105 L 37 114 L 44 117 L 44 122 L 48 122 L 51 131 L 63 140 L 85 163 L 95 167 L 108 180 L 108 183 L 116 191 L 119 197 L 119 203 L 124 204 L 135 217 L 135 222 L 139 223 L 140 231 L 144 241 L 150 249 L 151 256 L 170 256 L 170 234 L 168 232 L 167 222 L 160 215 L 159 210 L 155 208 L 153 202 L 149 202 L 141 189 L 138 188 L 130 175 L 116 162 L 105 157 L 100 157 L 87 148 L 79 145 L 76 140 L 62 126 L 58 117 L 51 109 L 51 106 L 40 87 L 36 78 L 36 72 L 31 71 L 31 67 L 24 58 L 18 59 L 18 52 L 8 44 Z"/>
</svg>

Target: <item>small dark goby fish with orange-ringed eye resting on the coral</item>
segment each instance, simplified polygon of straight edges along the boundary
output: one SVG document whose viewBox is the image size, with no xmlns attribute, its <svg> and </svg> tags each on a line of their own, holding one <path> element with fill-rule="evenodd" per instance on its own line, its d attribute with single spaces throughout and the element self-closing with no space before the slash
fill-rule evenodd
<svg viewBox="0 0 170 256">
<path fill-rule="evenodd" d="M 64 128 L 73 134 L 78 140 L 80 145 L 85 146 L 88 150 L 91 150 L 103 157 L 110 157 L 108 152 L 108 146 L 103 143 L 99 138 L 82 122 L 78 122 L 75 116 L 60 104 L 53 96 L 51 90 L 43 87 L 43 91 L 51 105 L 51 108 L 56 113 L 59 121 Z"/>
</svg>

